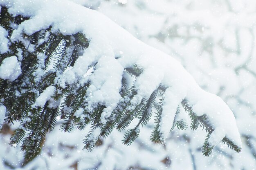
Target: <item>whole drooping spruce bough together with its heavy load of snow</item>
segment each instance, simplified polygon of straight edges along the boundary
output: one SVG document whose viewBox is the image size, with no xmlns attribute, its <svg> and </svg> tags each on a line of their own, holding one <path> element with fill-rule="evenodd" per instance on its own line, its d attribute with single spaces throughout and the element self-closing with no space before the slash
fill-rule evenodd
<svg viewBox="0 0 256 170">
<path fill-rule="evenodd" d="M 18 101 L 25 95 L 32 96 L 26 99 L 31 105 L 22 107 L 20 116 L 13 116 L 17 114 L 13 107 L 0 102 L 6 107 L 6 122 L 18 120 L 21 124 L 11 143 L 22 140 L 20 132 L 27 139 L 35 137 L 27 125 L 38 120 L 36 115 L 51 125 L 45 128 L 39 123 L 41 130 L 38 129 L 36 137 L 40 143 L 54 127 L 60 110 L 64 131 L 74 126 L 82 130 L 91 123 L 91 131 L 84 140 L 89 150 L 100 136 L 108 136 L 114 128 L 124 130 L 139 119 L 124 136 L 124 143 L 130 144 L 139 135 L 139 127 L 150 120 L 153 108 L 157 116 L 151 140 L 163 142 L 175 125 L 184 127 L 182 121 L 175 119 L 184 107 L 191 118 L 191 128 L 200 125 L 209 133 L 204 155 L 209 155 L 220 141 L 240 152 L 236 120 L 225 102 L 202 90 L 177 60 L 136 39 L 103 14 L 67 0 L 7 0 L 0 5 L 1 13 L 6 10 L 19 21 L 10 26 L 6 23 L 12 28 L 9 36 L 7 26 L 0 27 L 4 29 L 0 39 L 9 42 L 0 51 L 3 58 L 18 55 L 13 44 L 19 47 L 19 54 L 22 50 L 23 58 L 36 56 L 29 61 L 15 57 L 22 72 L 0 82 L 15 86 L 18 92 L 12 95 Z M 25 62 L 31 62 L 32 67 L 23 67 Z M 3 65 L 2 62 L 0 67 Z M 0 78 L 4 75 L 1 71 Z M 22 121 L 25 117 L 31 121 Z M 28 131 L 30 134 L 25 133 Z M 22 145 L 29 144 L 23 141 Z"/>
</svg>

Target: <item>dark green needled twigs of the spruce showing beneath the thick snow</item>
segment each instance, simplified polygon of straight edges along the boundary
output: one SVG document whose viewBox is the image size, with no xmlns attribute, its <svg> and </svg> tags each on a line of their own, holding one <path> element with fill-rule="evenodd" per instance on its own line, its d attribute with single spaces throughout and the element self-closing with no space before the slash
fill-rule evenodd
<svg viewBox="0 0 256 170">
<path fill-rule="evenodd" d="M 19 64 L 13 69 L 17 75 L 0 76 L 0 105 L 6 108 L 4 123 L 20 123 L 11 137 L 10 145 L 20 145 L 21 150 L 25 151 L 27 161 L 40 152 L 45 136 L 54 129 L 58 116 L 63 120 L 61 130 L 64 132 L 71 132 L 73 128 L 83 130 L 90 125 L 91 130 L 83 143 L 84 149 L 91 151 L 99 137 L 106 138 L 114 129 L 125 130 L 137 119 L 137 125 L 127 130 L 124 135 L 123 143 L 130 145 L 138 137 L 139 127 L 146 125 L 156 110 L 155 128 L 150 140 L 156 143 L 164 142 L 160 127 L 164 119 L 163 102 L 168 87 L 160 83 L 149 97 L 134 104 L 134 98 L 138 94 L 136 81 L 146 72 L 144 67 L 135 63 L 124 69 L 119 89 L 121 99 L 110 115 L 103 114 L 108 110 L 107 102 L 97 103 L 88 109 L 88 89 L 92 81 L 76 78 L 74 82 L 63 83 L 61 77 L 65 76 L 68 69 L 74 67 L 78 58 L 88 49 L 91 39 L 82 31 L 69 35 L 49 26 L 32 34 L 22 31 L 21 38 L 13 40 L 13 32 L 17 27 L 31 18 L 20 13 L 10 13 L 11 7 L 1 6 L 0 26 L 7 33 L 4 37 L 8 40 L 8 50 L 0 51 L 0 67 L 5 68 L 8 60 Z M 99 67 L 98 62 L 88 67 L 87 75 L 94 75 L 94 71 Z M 207 131 L 202 152 L 204 156 L 209 156 L 214 145 L 211 145 L 208 139 L 215 129 L 211 119 L 207 114 L 198 116 L 193 112 L 192 105 L 186 98 L 177 107 L 175 118 L 180 113 L 180 107 L 190 116 L 191 129 L 195 130 L 200 126 Z M 188 127 L 184 120 L 175 118 L 170 130 L 175 126 L 181 130 Z M 224 137 L 222 142 L 235 152 L 241 151 L 232 139 Z"/>
</svg>

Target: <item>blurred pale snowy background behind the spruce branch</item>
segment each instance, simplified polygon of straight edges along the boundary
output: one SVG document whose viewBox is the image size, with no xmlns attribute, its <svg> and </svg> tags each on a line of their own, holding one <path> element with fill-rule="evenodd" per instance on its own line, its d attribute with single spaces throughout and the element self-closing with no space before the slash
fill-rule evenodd
<svg viewBox="0 0 256 170">
<path fill-rule="evenodd" d="M 123 145 L 125 132 L 114 130 L 92 152 L 82 150 L 86 130 L 63 133 L 57 125 L 38 157 L 24 163 L 20 148 L 8 144 L 16 125 L 4 125 L 1 170 L 255 169 L 255 0 L 70 1 L 105 14 L 136 38 L 179 60 L 200 87 L 220 96 L 234 112 L 243 150 L 235 153 L 219 143 L 210 157 L 203 157 L 202 128 L 175 129 L 164 144 L 152 143 L 152 119 L 132 145 Z"/>
</svg>

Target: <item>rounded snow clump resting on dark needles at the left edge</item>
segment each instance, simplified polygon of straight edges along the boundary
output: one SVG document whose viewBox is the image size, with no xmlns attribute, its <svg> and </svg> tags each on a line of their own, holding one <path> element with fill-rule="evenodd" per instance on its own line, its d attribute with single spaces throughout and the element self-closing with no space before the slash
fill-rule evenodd
<svg viewBox="0 0 256 170">
<path fill-rule="evenodd" d="M 20 64 L 16 56 L 4 58 L 0 65 L 0 78 L 14 81 L 21 73 Z"/>
</svg>

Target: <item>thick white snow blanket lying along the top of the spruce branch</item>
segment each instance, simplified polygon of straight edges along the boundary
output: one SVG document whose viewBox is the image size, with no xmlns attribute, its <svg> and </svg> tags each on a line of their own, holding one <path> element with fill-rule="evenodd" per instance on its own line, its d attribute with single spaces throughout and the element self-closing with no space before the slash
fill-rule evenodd
<svg viewBox="0 0 256 170">
<path fill-rule="evenodd" d="M 213 137 L 209 139 L 211 145 L 216 145 L 224 136 L 227 136 L 241 146 L 235 117 L 222 99 L 202 90 L 177 60 L 144 44 L 103 14 L 67 0 L 62 0 L 61 3 L 58 0 L 35 0 L 33 3 L 30 0 L 9 0 L 0 4 L 11 6 L 9 12 L 14 15 L 22 14 L 31 18 L 22 22 L 13 31 L 11 41 L 21 40 L 22 31 L 31 35 L 49 26 L 52 26 L 53 31 L 61 31 L 65 35 L 80 31 L 90 39 L 88 49 L 77 59 L 74 67 L 65 72 L 67 76 L 60 77 L 60 82 L 64 87 L 63 82 L 72 84 L 78 81 L 82 85 L 85 81 L 90 81 L 87 109 L 90 111 L 98 103 L 106 105 L 107 108 L 101 116 L 102 123 L 106 122 L 120 100 L 119 89 L 123 70 L 137 63 L 144 68 L 144 73 L 135 82 L 135 89 L 138 92 L 136 100 L 133 100 L 136 101 L 135 104 L 142 98 L 148 98 L 160 83 L 168 87 L 163 103 L 163 119 L 160 123 L 163 138 L 166 138 L 170 131 L 176 108 L 182 99 L 187 98 L 194 112 L 198 116 L 207 114 L 213 127 L 216 128 L 212 134 L 214 139 Z M 32 47 L 31 51 L 33 51 Z M 122 51 L 121 54 L 120 51 Z M 120 57 L 116 59 L 115 56 Z M 5 76 L 3 70 L 8 68 L 3 62 L 3 66 L 0 66 L 0 76 L 14 80 L 16 76 L 13 74 L 16 68 L 20 67 L 15 56 L 8 60 L 16 62 L 15 67 L 9 69 L 9 72 L 13 72 Z M 97 63 L 94 74 L 84 78 L 83 75 L 88 66 L 94 63 Z M 54 89 L 54 86 L 47 87 L 36 99 L 35 106 L 43 107 L 50 100 Z M 95 134 L 98 134 L 98 131 L 96 130 Z M 93 136 L 92 139 L 94 139 Z"/>
</svg>

